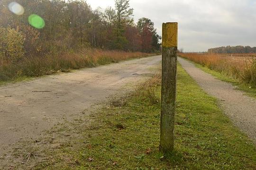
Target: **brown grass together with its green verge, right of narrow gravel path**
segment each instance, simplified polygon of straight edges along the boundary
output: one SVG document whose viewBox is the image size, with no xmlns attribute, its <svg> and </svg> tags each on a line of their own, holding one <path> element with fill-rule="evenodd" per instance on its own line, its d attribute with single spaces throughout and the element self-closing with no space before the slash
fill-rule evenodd
<svg viewBox="0 0 256 170">
<path fill-rule="evenodd" d="M 255 54 L 179 53 L 197 67 L 256 98 Z"/>
</svg>

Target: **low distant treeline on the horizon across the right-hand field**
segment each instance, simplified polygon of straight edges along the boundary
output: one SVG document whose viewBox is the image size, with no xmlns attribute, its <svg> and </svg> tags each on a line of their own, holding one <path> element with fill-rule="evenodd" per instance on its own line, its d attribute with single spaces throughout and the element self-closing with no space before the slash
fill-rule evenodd
<svg viewBox="0 0 256 170">
<path fill-rule="evenodd" d="M 217 47 L 208 50 L 209 53 L 256 53 L 256 47 L 250 46 L 227 46 Z"/>
</svg>

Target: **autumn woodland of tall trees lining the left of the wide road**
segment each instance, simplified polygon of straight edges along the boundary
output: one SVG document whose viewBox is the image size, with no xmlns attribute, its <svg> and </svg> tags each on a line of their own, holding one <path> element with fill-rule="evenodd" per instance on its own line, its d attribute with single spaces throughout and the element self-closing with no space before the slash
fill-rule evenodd
<svg viewBox="0 0 256 170">
<path fill-rule="evenodd" d="M 115 0 L 115 7 L 92 10 L 84 0 L 16 0 L 22 15 L 12 13 L 12 0 L 0 1 L 0 57 L 44 55 L 93 47 L 107 50 L 154 52 L 160 48 L 154 23 L 133 19 L 129 0 Z M 36 14 L 45 26 L 29 25 Z M 17 37 L 17 38 L 15 38 Z"/>
</svg>

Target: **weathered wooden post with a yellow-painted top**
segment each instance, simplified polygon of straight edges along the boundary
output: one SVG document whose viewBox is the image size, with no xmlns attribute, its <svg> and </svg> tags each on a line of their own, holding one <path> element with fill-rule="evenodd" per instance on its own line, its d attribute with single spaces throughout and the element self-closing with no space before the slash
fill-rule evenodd
<svg viewBox="0 0 256 170">
<path fill-rule="evenodd" d="M 163 23 L 162 35 L 161 152 L 174 150 L 178 23 Z"/>
</svg>

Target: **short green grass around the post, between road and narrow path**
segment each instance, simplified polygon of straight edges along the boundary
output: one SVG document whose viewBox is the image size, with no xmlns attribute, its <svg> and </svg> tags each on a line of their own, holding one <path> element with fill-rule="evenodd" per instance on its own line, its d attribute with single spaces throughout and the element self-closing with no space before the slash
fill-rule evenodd
<svg viewBox="0 0 256 170">
<path fill-rule="evenodd" d="M 154 81 L 157 82 L 157 81 Z M 151 84 L 154 84 L 151 83 Z M 150 82 L 149 82 L 150 84 Z M 160 85 L 152 85 L 160 97 Z M 53 153 L 46 170 L 255 170 L 256 147 L 234 127 L 205 93 L 178 67 L 175 151 L 158 152 L 160 102 L 140 88 L 122 107 L 105 106 L 91 115 L 89 127 L 75 127 L 80 139 Z M 77 124 L 86 119 L 77 120 Z M 93 160 L 92 160 L 93 159 Z M 68 161 L 66 161 L 68 160 Z"/>
</svg>

